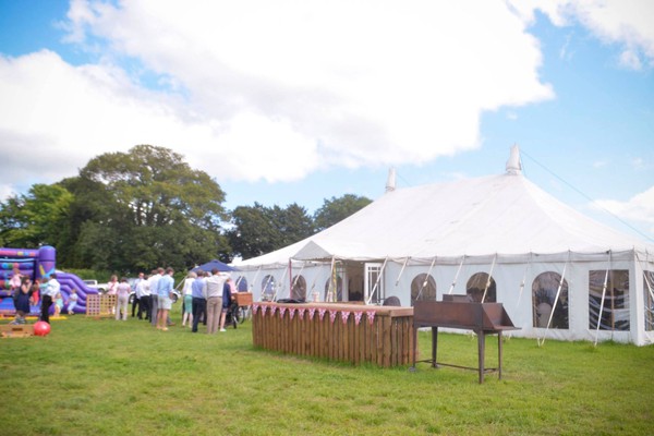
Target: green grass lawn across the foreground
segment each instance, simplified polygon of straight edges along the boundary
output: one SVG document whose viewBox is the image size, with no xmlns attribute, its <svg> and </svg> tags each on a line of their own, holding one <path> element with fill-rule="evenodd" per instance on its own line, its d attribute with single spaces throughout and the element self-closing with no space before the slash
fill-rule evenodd
<svg viewBox="0 0 654 436">
<path fill-rule="evenodd" d="M 177 304 L 174 310 L 179 311 Z M 252 347 L 251 322 L 216 336 L 144 320 L 52 322 L 0 339 L 3 435 L 647 435 L 654 347 L 510 339 L 504 378 L 419 364 L 383 370 Z M 421 354 L 429 336 L 420 334 Z M 496 364 L 494 337 L 487 365 Z M 474 365 L 476 339 L 440 335 Z"/>
</svg>

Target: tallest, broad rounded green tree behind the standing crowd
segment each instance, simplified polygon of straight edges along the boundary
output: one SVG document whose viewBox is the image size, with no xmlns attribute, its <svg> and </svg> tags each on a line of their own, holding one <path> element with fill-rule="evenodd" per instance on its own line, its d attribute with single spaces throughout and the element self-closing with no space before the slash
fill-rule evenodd
<svg viewBox="0 0 654 436">
<path fill-rule="evenodd" d="M 168 148 L 104 154 L 63 183 L 75 194 L 66 262 L 77 267 L 185 268 L 230 251 L 220 234 L 225 193 Z"/>
</svg>

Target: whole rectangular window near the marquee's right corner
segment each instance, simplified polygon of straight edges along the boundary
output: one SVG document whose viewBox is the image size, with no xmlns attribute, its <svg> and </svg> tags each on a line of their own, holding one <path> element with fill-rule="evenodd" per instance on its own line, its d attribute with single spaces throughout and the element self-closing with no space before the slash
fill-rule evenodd
<svg viewBox="0 0 654 436">
<path fill-rule="evenodd" d="M 629 270 L 608 271 L 602 306 L 605 278 L 606 270 L 589 271 L 589 328 L 596 329 L 600 318 L 600 330 L 629 330 Z"/>
</svg>

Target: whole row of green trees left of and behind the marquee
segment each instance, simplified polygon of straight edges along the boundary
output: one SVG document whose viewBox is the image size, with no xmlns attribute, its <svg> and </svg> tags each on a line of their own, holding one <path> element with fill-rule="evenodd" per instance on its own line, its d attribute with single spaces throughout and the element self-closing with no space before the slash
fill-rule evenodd
<svg viewBox="0 0 654 436">
<path fill-rule="evenodd" d="M 0 202 L 0 246 L 57 249 L 61 268 L 184 270 L 213 258 L 250 258 L 301 241 L 371 199 L 325 199 L 313 215 L 293 203 L 223 207 L 206 172 L 165 147 L 137 145 L 97 156 L 72 178 L 34 184 Z"/>
</svg>

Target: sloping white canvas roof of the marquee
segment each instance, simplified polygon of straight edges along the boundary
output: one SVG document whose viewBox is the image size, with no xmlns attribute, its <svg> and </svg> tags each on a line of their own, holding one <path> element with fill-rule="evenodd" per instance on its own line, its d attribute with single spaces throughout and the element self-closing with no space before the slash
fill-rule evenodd
<svg viewBox="0 0 654 436">
<path fill-rule="evenodd" d="M 389 190 L 337 225 L 239 266 L 293 259 L 654 253 L 526 180 L 519 168 L 476 179 Z"/>
</svg>

